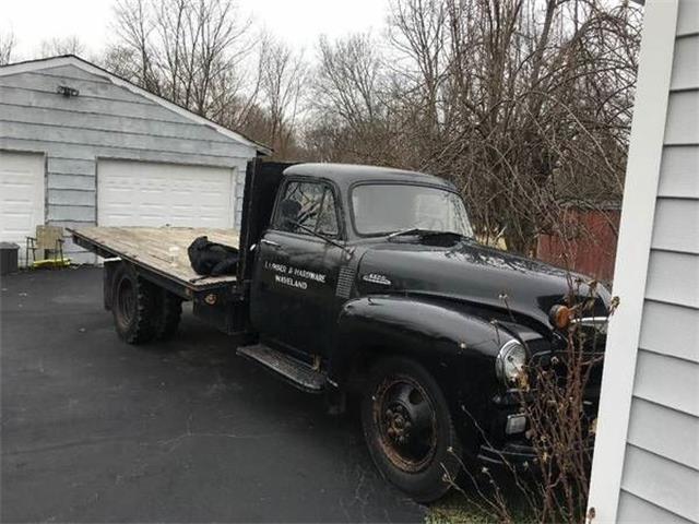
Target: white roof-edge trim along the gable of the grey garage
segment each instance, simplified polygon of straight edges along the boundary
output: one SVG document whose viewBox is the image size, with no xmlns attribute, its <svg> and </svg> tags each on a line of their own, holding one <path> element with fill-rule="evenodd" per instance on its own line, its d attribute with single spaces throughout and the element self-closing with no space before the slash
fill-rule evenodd
<svg viewBox="0 0 699 524">
<path fill-rule="evenodd" d="M 272 154 L 271 147 L 264 144 L 261 144 L 260 142 L 256 142 L 239 132 L 232 131 L 227 128 L 224 128 L 223 126 L 214 122 L 213 120 L 209 120 L 208 118 L 199 116 L 178 104 L 175 104 L 166 98 L 163 98 L 162 96 L 155 95 L 150 91 L 139 87 L 133 82 L 129 82 L 128 80 L 125 80 L 121 76 L 117 76 L 116 74 L 110 73 L 106 69 L 103 69 L 99 66 L 95 66 L 94 63 L 88 62 L 87 60 L 84 60 L 80 57 L 76 57 L 75 55 L 63 55 L 59 57 L 42 58 L 38 60 L 27 60 L 24 62 L 16 62 L 8 66 L 2 66 L 0 67 L 0 76 L 38 71 L 38 70 L 48 69 L 48 68 L 57 68 L 60 66 L 74 66 L 88 73 L 106 78 L 112 84 L 123 87 L 137 95 L 141 95 L 144 98 L 147 98 L 149 100 L 154 102 L 155 104 L 158 104 L 165 107 L 166 109 L 169 109 L 170 111 L 174 111 L 185 118 L 188 118 L 189 120 L 192 120 L 196 123 L 208 126 L 209 128 L 217 131 L 224 136 L 233 139 L 242 144 L 252 146 L 257 150 L 258 153 L 262 155 Z"/>
</svg>

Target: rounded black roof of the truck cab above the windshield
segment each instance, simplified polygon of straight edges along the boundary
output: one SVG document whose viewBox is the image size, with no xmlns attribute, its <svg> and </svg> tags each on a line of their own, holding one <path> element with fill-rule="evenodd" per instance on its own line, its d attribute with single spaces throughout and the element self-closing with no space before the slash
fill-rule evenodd
<svg viewBox="0 0 699 524">
<path fill-rule="evenodd" d="M 284 176 L 325 178 L 342 188 L 348 188 L 357 182 L 386 181 L 438 186 L 452 191 L 455 189 L 453 183 L 443 178 L 427 175 L 426 172 L 408 171 L 393 167 L 365 166 L 360 164 L 295 164 L 284 170 Z"/>
</svg>

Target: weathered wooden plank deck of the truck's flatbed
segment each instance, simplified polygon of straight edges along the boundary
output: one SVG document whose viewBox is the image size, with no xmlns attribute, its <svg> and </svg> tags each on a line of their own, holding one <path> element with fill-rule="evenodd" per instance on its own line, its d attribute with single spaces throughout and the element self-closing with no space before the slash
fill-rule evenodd
<svg viewBox="0 0 699 524">
<path fill-rule="evenodd" d="M 235 275 L 202 276 L 192 270 L 187 248 L 197 237 L 208 236 L 212 242 L 238 248 L 239 236 L 234 229 L 203 227 L 81 227 L 69 229 L 99 248 L 112 252 L 163 276 L 174 278 L 192 289 L 236 282 Z M 177 248 L 170 253 L 170 248 Z"/>
</svg>

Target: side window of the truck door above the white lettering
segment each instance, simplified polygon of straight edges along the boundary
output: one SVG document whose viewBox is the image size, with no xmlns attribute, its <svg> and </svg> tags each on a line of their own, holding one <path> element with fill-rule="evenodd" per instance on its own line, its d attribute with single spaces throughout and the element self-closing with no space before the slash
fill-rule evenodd
<svg viewBox="0 0 699 524">
<path fill-rule="evenodd" d="M 289 219 L 324 235 L 337 235 L 335 199 L 330 188 L 317 182 L 289 182 L 274 217 L 274 227 L 308 235 Z"/>
</svg>

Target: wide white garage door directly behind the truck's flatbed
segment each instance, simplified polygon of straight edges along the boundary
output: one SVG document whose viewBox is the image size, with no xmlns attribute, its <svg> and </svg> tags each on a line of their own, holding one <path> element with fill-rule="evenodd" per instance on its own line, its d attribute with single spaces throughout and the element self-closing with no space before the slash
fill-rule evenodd
<svg viewBox="0 0 699 524">
<path fill-rule="evenodd" d="M 99 160 L 97 224 L 233 227 L 234 193 L 228 168 Z"/>
</svg>

